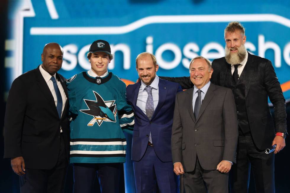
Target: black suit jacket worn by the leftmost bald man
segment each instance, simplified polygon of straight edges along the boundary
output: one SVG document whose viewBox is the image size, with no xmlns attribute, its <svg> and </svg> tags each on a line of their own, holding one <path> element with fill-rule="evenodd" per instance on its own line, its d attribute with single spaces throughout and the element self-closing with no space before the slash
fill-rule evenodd
<svg viewBox="0 0 290 193">
<path fill-rule="evenodd" d="M 65 78 L 56 74 L 67 95 Z M 69 155 L 68 99 L 59 119 L 53 96 L 39 67 L 17 77 L 7 99 L 4 158 L 22 156 L 26 168 L 51 169 L 58 159 L 60 126 Z"/>
</svg>

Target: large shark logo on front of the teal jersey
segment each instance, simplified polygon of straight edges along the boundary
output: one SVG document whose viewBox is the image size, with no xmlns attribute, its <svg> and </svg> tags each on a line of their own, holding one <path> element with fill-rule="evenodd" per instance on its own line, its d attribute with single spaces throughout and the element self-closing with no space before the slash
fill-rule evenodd
<svg viewBox="0 0 290 193">
<path fill-rule="evenodd" d="M 95 91 L 93 91 L 96 100 L 84 99 L 89 109 L 80 110 L 82 113 L 93 116 L 93 119 L 88 123 L 88 126 L 94 126 L 97 122 L 99 126 L 104 121 L 116 122 L 117 107 L 115 100 L 104 101 L 104 99 Z"/>
</svg>

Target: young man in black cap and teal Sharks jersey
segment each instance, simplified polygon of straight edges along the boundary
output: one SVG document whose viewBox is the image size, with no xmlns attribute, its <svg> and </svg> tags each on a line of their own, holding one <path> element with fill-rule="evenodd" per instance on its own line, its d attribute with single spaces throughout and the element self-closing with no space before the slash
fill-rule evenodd
<svg viewBox="0 0 290 193">
<path fill-rule="evenodd" d="M 70 98 L 70 163 L 74 193 L 92 192 L 97 177 L 102 192 L 118 192 L 120 164 L 134 116 L 126 102 L 126 85 L 108 64 L 113 59 L 107 41 L 96 40 L 87 55 L 91 69 L 67 80 Z"/>
</svg>

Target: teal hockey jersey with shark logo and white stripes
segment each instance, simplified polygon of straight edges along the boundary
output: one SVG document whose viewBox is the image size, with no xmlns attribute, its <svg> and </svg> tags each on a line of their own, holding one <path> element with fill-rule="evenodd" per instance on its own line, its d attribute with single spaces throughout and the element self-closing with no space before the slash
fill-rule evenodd
<svg viewBox="0 0 290 193">
<path fill-rule="evenodd" d="M 133 133 L 134 114 L 126 101 L 126 85 L 111 72 L 87 72 L 67 80 L 70 102 L 70 163 L 124 163 L 126 138 Z"/>
</svg>

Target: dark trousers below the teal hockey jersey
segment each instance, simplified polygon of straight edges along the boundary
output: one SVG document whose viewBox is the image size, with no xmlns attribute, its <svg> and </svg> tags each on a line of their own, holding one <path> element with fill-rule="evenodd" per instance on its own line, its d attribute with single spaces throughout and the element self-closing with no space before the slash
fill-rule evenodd
<svg viewBox="0 0 290 193">
<path fill-rule="evenodd" d="M 96 173 L 102 193 L 119 192 L 121 163 L 74 163 L 73 192 L 94 192 Z"/>
</svg>

